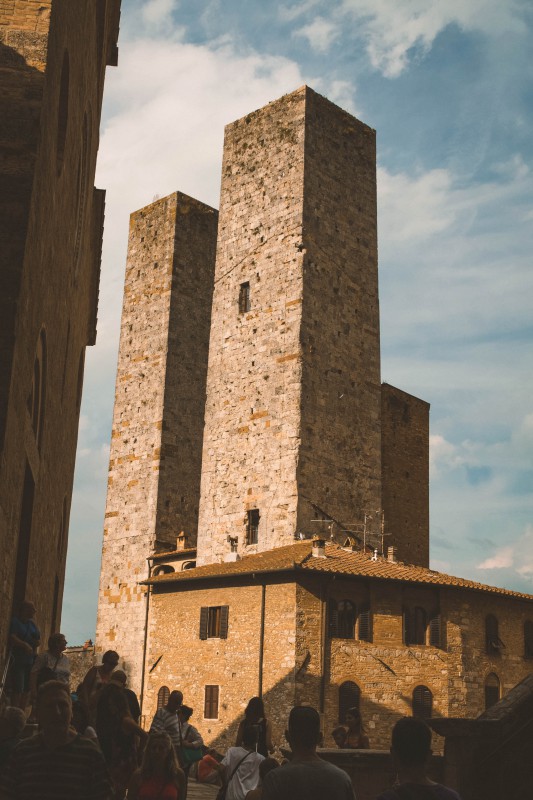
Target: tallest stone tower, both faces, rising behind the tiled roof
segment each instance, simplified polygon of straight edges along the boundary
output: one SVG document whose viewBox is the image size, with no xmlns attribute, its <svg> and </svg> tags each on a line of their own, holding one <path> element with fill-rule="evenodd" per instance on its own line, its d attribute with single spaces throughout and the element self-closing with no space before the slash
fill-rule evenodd
<svg viewBox="0 0 533 800">
<path fill-rule="evenodd" d="M 380 406 L 375 132 L 303 87 L 226 128 L 198 563 L 379 509 Z"/>
</svg>

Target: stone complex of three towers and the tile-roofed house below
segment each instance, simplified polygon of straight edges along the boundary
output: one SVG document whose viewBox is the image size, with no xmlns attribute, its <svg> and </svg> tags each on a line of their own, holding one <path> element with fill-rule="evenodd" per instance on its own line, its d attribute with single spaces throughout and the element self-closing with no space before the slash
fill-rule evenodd
<svg viewBox="0 0 533 800">
<path fill-rule="evenodd" d="M 295 702 L 325 730 L 360 704 L 387 746 L 413 704 L 474 715 L 529 671 L 533 598 L 429 569 L 429 406 L 380 383 L 376 225 L 374 131 L 307 87 L 226 128 L 218 233 L 179 194 L 132 216 L 96 649 L 146 717 L 182 688 L 223 745 L 262 694 L 281 742 Z"/>
</svg>

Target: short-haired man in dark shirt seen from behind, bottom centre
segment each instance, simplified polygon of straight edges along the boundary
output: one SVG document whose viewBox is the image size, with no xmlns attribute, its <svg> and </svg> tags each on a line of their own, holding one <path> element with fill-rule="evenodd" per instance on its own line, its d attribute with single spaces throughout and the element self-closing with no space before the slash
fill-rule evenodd
<svg viewBox="0 0 533 800">
<path fill-rule="evenodd" d="M 285 732 L 292 760 L 265 776 L 262 800 L 355 800 L 347 773 L 323 761 L 316 749 L 321 739 L 320 716 L 311 706 L 295 706 Z"/>
</svg>

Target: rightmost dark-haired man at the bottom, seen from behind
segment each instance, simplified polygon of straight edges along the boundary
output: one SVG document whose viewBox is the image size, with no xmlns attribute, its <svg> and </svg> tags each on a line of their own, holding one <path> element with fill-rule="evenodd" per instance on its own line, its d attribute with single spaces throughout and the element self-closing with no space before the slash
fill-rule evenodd
<svg viewBox="0 0 533 800">
<path fill-rule="evenodd" d="M 392 729 L 391 754 L 398 785 L 378 800 L 460 800 L 453 789 L 427 777 L 431 756 L 431 730 L 418 717 L 402 717 Z"/>
</svg>

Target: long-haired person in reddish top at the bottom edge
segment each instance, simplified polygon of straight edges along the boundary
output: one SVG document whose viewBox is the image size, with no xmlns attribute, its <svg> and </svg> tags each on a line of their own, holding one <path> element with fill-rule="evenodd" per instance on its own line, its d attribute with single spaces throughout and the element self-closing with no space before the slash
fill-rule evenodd
<svg viewBox="0 0 533 800">
<path fill-rule="evenodd" d="M 151 733 L 141 768 L 133 773 L 128 800 L 181 800 L 185 775 L 180 769 L 168 733 Z"/>
</svg>

